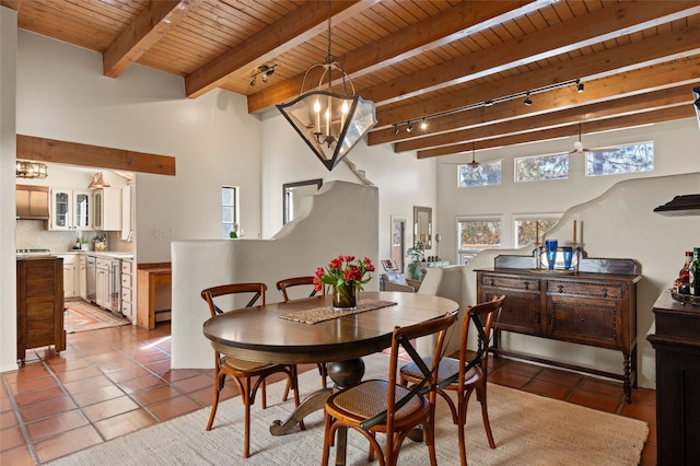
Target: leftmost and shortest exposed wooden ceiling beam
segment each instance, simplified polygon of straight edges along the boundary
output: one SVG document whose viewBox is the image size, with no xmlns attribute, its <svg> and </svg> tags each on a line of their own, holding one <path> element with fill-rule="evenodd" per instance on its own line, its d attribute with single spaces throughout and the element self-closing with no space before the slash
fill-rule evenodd
<svg viewBox="0 0 700 466">
<path fill-rule="evenodd" d="M 151 1 L 102 53 L 102 70 L 118 78 L 187 14 L 189 0 Z"/>
</svg>

